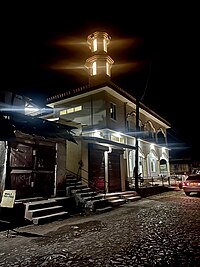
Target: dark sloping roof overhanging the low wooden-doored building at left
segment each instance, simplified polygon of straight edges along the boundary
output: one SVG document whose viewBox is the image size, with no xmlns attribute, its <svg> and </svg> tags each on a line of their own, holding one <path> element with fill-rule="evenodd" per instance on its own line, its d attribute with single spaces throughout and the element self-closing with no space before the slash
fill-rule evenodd
<svg viewBox="0 0 200 267">
<path fill-rule="evenodd" d="M 0 140 L 9 140 L 15 137 L 16 131 L 32 136 L 44 138 L 65 139 L 76 143 L 73 137 L 74 126 L 63 125 L 52 121 L 27 116 L 19 112 L 0 111 Z"/>
</svg>

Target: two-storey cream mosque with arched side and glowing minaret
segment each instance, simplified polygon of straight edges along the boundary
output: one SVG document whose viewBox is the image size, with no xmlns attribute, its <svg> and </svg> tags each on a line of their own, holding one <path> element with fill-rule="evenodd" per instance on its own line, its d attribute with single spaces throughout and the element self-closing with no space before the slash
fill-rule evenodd
<svg viewBox="0 0 200 267">
<path fill-rule="evenodd" d="M 170 123 L 112 82 L 114 60 L 108 55 L 110 42 L 106 32 L 94 32 L 87 37 L 91 50 L 85 63 L 89 83 L 49 97 L 47 106 L 53 113 L 43 117 L 79 125 L 78 145 L 67 146 L 66 170 L 80 171 L 89 187 L 105 193 L 134 186 L 136 160 L 138 174 L 144 179 L 170 175 L 167 148 Z"/>
</svg>

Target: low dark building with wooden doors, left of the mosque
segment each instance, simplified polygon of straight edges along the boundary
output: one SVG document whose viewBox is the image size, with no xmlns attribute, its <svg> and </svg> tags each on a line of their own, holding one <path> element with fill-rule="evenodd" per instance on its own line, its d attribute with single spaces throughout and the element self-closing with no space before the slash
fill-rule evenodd
<svg viewBox="0 0 200 267">
<path fill-rule="evenodd" d="M 76 127 L 32 116 L 38 108 L 12 92 L 1 92 L 0 107 L 0 197 L 5 189 L 16 190 L 16 199 L 56 196 L 65 175 L 58 154 L 76 144 Z"/>
</svg>

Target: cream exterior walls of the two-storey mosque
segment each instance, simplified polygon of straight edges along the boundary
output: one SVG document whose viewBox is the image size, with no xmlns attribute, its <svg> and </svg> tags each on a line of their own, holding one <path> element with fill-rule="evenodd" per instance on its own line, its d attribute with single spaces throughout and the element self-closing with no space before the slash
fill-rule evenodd
<svg viewBox="0 0 200 267">
<path fill-rule="evenodd" d="M 89 92 L 88 92 L 89 94 Z M 111 118 L 110 113 L 110 104 L 113 103 L 116 105 L 116 120 Z M 134 103 L 133 107 L 134 107 Z M 133 125 L 136 123 L 135 120 L 135 110 L 134 108 L 131 108 L 130 105 L 127 105 L 127 103 L 123 100 L 123 98 L 115 97 L 114 94 L 112 95 L 108 91 L 91 91 L 91 94 L 86 97 L 81 97 L 78 99 L 74 99 L 73 101 L 69 101 L 66 99 L 66 102 L 62 105 L 56 105 L 55 108 L 58 112 L 58 110 L 76 107 L 76 106 L 82 106 L 82 109 L 78 112 L 69 113 L 63 116 L 60 116 L 66 120 L 73 120 L 78 123 L 81 123 L 83 125 L 84 130 L 84 136 L 94 136 L 90 130 L 98 130 L 98 129 L 110 129 L 112 132 L 109 131 L 109 134 L 105 136 L 104 138 L 107 138 L 109 140 L 115 141 L 115 142 L 121 142 L 125 144 L 134 145 L 135 138 L 134 137 L 127 137 L 123 136 L 123 141 L 117 141 L 112 139 L 117 132 L 126 133 L 128 131 L 127 129 L 127 115 L 128 113 L 131 113 L 131 116 L 129 119 L 133 122 Z M 142 175 L 144 177 L 158 177 L 161 173 L 160 169 L 160 160 L 166 159 L 167 162 L 167 171 L 166 175 L 169 174 L 169 155 L 168 151 L 166 153 L 162 152 L 162 147 L 159 145 L 155 145 L 154 148 L 151 147 L 151 142 L 156 144 L 157 138 L 156 134 L 159 130 L 162 129 L 163 134 L 166 133 L 166 127 L 163 125 L 163 123 L 159 123 L 159 120 L 157 120 L 148 114 L 140 113 L 140 126 L 147 125 L 147 129 L 149 132 L 152 132 L 152 139 L 147 140 L 143 139 L 143 136 L 141 136 L 141 140 L 139 143 L 139 161 L 141 162 L 140 172 L 142 172 Z M 134 127 L 133 127 L 134 128 Z M 134 129 L 133 129 L 134 130 Z M 141 132 L 144 130 L 144 128 L 141 128 Z M 94 132 L 93 132 L 94 133 Z M 144 132 L 143 132 L 144 134 Z M 103 136 L 103 134 L 101 135 Z M 135 165 L 135 151 L 130 152 L 131 159 L 124 158 L 121 160 L 121 181 L 122 181 L 122 190 L 125 188 L 125 180 L 127 177 L 133 177 L 133 169 Z M 129 153 L 129 154 L 130 154 Z M 76 160 L 74 160 L 70 157 L 70 155 L 76 155 Z M 78 162 L 79 160 L 82 160 L 83 162 L 83 168 L 81 171 L 81 176 L 84 177 L 84 181 L 88 181 L 88 143 L 83 141 L 82 144 L 78 142 L 78 146 L 76 147 L 75 144 L 69 144 L 67 147 L 67 169 L 71 170 L 72 172 L 76 173 L 78 171 Z M 123 162 L 123 164 L 122 164 Z"/>
</svg>

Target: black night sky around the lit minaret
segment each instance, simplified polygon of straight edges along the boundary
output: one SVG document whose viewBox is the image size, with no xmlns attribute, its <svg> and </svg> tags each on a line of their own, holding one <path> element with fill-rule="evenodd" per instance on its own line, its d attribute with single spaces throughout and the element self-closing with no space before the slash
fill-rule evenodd
<svg viewBox="0 0 200 267">
<path fill-rule="evenodd" d="M 142 96 L 171 123 L 172 135 L 197 154 L 197 5 L 107 2 L 13 1 L 1 6 L 1 89 L 44 105 L 49 96 L 87 84 L 87 36 L 105 31 L 112 38 L 112 81 Z"/>
</svg>

